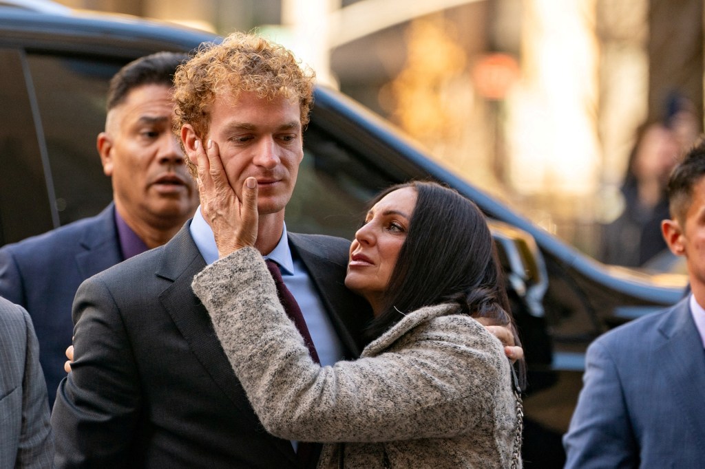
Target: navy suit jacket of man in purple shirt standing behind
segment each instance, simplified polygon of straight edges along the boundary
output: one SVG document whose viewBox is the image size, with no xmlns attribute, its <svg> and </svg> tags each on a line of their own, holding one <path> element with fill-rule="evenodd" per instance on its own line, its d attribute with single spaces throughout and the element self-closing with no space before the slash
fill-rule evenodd
<svg viewBox="0 0 705 469">
<path fill-rule="evenodd" d="M 71 304 L 78 285 L 120 261 L 113 204 L 92 218 L 0 249 L 0 296 L 24 306 L 32 317 L 50 405 L 66 376 L 64 352 L 71 345 Z"/>
</svg>

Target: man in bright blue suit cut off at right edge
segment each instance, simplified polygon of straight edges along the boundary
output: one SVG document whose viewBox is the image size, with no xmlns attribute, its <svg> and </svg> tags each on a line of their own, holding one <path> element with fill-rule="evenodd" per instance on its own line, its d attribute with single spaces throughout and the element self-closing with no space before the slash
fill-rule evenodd
<svg viewBox="0 0 705 469">
<path fill-rule="evenodd" d="M 692 292 L 596 339 L 563 437 L 565 468 L 702 468 L 705 463 L 705 142 L 668 182 L 661 230 Z"/>
</svg>

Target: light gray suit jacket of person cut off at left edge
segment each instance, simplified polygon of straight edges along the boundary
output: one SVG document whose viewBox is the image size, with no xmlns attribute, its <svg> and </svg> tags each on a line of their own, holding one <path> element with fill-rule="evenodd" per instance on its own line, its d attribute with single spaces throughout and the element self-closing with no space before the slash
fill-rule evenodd
<svg viewBox="0 0 705 469">
<path fill-rule="evenodd" d="M 0 297 L 0 468 L 49 468 L 54 439 L 32 320 Z"/>
</svg>

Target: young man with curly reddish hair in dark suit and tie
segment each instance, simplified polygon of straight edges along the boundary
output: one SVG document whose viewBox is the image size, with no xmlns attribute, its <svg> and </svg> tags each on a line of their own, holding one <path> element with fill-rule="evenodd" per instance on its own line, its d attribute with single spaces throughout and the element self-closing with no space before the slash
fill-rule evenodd
<svg viewBox="0 0 705 469">
<path fill-rule="evenodd" d="M 258 246 L 277 256 L 302 311 L 319 321 L 311 332 L 321 359 L 356 356 L 371 313 L 343 284 L 349 242 L 283 223 L 312 75 L 280 46 L 234 35 L 201 49 L 175 80 L 186 150 L 212 140 L 233 183 L 254 175 L 262 185 Z M 197 211 L 164 246 L 78 289 L 75 361 L 51 416 L 59 468 L 302 467 L 291 442 L 262 430 L 191 290 L 217 256 Z"/>
</svg>

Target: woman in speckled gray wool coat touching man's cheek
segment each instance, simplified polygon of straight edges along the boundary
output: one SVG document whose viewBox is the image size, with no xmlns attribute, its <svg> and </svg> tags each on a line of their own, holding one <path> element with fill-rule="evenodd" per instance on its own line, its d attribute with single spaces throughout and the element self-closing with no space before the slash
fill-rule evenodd
<svg viewBox="0 0 705 469">
<path fill-rule="evenodd" d="M 239 210 L 224 202 L 213 209 L 218 193 L 202 186 L 209 220 L 241 229 L 214 230 L 230 239 L 216 238 L 221 258 L 192 288 L 268 432 L 324 443 L 319 468 L 522 466 L 513 368 L 476 320 L 515 330 L 475 204 L 431 182 L 394 186 L 374 199 L 345 277 L 372 306 L 371 342 L 359 359 L 321 367 L 252 247 L 254 178 Z"/>
</svg>

